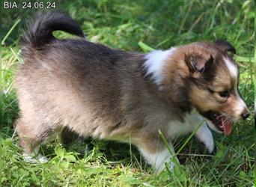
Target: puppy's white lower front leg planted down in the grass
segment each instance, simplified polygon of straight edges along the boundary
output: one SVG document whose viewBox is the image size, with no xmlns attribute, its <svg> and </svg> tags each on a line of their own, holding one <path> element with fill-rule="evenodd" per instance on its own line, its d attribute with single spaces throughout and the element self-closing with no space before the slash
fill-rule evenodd
<svg viewBox="0 0 256 187">
<path fill-rule="evenodd" d="M 138 147 L 138 150 L 140 150 L 147 163 L 153 166 L 156 173 L 160 173 L 165 168 L 165 162 L 168 163 L 171 170 L 174 168 L 174 165 L 179 163 L 172 144 L 169 145 L 171 153 L 163 144 L 161 149 L 156 149 L 156 147 L 151 147 L 150 149 L 148 147 Z"/>
</svg>

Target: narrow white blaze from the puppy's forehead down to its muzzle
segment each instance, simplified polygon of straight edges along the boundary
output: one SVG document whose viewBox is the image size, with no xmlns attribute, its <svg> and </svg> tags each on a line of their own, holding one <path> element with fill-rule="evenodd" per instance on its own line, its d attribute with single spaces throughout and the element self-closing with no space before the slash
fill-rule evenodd
<svg viewBox="0 0 256 187">
<path fill-rule="evenodd" d="M 240 96 L 240 93 L 238 91 L 237 88 L 237 82 L 239 79 L 239 70 L 237 68 L 237 65 L 234 64 L 233 62 L 231 62 L 228 58 L 224 58 L 225 64 L 228 67 L 229 73 L 231 74 L 232 79 L 234 79 L 234 93 L 236 95 L 237 98 L 237 105 L 234 108 L 234 111 L 236 112 L 236 115 L 239 116 L 240 114 L 242 114 L 243 110 L 246 107 L 246 103 L 243 101 L 243 99 Z"/>
</svg>

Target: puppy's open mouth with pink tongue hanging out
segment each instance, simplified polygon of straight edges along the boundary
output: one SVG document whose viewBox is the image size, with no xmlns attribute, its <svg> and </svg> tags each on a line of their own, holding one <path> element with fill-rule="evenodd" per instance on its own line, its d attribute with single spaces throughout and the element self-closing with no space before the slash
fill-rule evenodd
<svg viewBox="0 0 256 187">
<path fill-rule="evenodd" d="M 216 111 L 207 111 L 203 114 L 213 125 L 225 135 L 230 135 L 232 131 L 232 120 L 226 117 L 225 114 L 220 114 Z"/>
</svg>

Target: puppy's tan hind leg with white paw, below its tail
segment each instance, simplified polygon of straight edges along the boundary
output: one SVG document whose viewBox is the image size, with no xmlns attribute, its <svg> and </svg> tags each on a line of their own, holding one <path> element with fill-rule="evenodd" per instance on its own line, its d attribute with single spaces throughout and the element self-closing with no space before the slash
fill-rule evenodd
<svg viewBox="0 0 256 187">
<path fill-rule="evenodd" d="M 28 121 L 19 118 L 16 122 L 16 130 L 24 159 L 28 162 L 47 162 L 48 159 L 39 153 L 39 147 L 54 133 L 54 128 L 45 123 L 38 123 L 37 120 Z"/>
</svg>

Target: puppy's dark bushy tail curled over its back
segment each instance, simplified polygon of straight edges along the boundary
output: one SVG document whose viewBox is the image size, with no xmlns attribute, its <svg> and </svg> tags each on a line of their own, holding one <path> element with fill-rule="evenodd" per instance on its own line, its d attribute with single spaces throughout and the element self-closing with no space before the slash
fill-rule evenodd
<svg viewBox="0 0 256 187">
<path fill-rule="evenodd" d="M 57 40 L 53 31 L 66 31 L 79 37 L 85 37 L 82 29 L 76 22 L 64 13 L 47 12 L 37 13 L 32 22 L 28 22 L 21 44 L 24 47 L 40 48 L 52 40 Z"/>
</svg>

